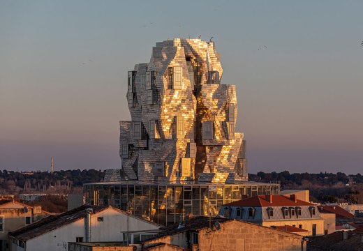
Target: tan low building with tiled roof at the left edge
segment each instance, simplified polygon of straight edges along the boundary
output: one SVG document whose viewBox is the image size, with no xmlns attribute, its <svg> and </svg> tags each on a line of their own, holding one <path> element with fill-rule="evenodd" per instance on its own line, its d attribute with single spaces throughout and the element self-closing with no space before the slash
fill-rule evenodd
<svg viewBox="0 0 363 251">
<path fill-rule="evenodd" d="M 44 218 L 41 206 L 29 206 L 14 199 L 0 199 L 0 250 L 8 250 L 8 233 Z"/>
</svg>

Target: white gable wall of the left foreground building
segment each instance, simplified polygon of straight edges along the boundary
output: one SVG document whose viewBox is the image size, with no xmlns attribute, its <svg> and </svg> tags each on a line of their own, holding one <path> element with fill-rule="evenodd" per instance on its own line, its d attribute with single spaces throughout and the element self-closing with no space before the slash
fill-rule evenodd
<svg viewBox="0 0 363 251">
<path fill-rule="evenodd" d="M 103 217 L 103 222 L 98 222 L 97 218 Z M 129 228 L 127 230 L 127 218 L 129 218 Z M 138 218 L 128 217 L 113 208 L 96 213 L 91 216 L 91 241 L 123 241 L 122 231 L 139 231 L 158 229 L 157 225 L 140 220 Z M 84 230 L 84 219 L 77 220 L 69 225 L 43 234 L 36 238 L 28 240 L 26 245 L 27 251 L 65 251 L 63 244 L 75 242 L 76 237 L 83 237 L 86 241 Z M 20 251 L 20 249 L 17 249 Z"/>
</svg>

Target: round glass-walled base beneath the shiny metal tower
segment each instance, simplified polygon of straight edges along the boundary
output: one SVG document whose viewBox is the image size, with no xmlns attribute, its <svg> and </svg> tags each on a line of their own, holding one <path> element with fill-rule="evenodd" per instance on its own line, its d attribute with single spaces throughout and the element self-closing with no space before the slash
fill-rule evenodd
<svg viewBox="0 0 363 251">
<path fill-rule="evenodd" d="M 223 204 L 254 195 L 278 195 L 277 183 L 135 184 L 128 181 L 84 185 L 88 204 L 112 205 L 161 225 L 186 215 L 217 215 Z"/>
</svg>

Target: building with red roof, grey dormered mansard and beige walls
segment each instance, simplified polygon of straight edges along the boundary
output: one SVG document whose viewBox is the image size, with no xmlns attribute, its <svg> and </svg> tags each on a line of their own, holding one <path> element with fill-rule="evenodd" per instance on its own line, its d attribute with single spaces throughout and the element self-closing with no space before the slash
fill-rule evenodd
<svg viewBox="0 0 363 251">
<path fill-rule="evenodd" d="M 324 234 L 324 220 L 316 205 L 299 200 L 295 195 L 258 195 L 234 201 L 224 204 L 219 215 L 265 227 L 297 227 L 306 230 L 299 232 L 303 236 Z"/>
</svg>

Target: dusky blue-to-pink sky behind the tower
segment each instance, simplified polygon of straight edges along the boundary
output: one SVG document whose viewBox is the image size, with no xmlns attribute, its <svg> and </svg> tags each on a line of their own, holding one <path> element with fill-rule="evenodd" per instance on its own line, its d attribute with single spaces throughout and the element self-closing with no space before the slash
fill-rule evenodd
<svg viewBox="0 0 363 251">
<path fill-rule="evenodd" d="M 249 172 L 363 170 L 363 1 L 0 0 L 0 169 L 119 168 L 127 71 L 213 37 Z"/>
</svg>

